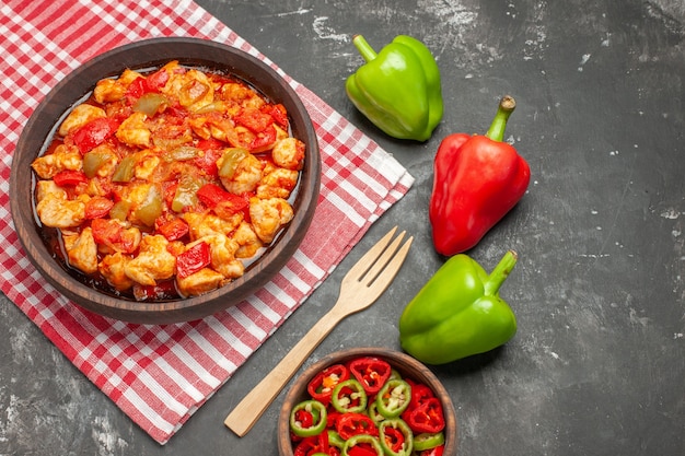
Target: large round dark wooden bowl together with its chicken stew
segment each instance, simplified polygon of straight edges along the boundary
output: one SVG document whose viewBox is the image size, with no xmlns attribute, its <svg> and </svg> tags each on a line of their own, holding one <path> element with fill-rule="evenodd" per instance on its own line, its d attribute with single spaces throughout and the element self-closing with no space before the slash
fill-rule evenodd
<svg viewBox="0 0 685 456">
<path fill-rule="evenodd" d="M 196 38 L 107 51 L 60 81 L 13 156 L 28 259 L 97 314 L 198 319 L 263 288 L 301 244 L 321 179 L 302 101 L 271 67 Z"/>
</svg>

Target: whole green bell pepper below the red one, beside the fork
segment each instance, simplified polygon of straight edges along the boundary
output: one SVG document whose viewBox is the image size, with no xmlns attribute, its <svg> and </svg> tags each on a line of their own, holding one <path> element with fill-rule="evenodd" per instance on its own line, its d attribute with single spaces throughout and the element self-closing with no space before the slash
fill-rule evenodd
<svg viewBox="0 0 685 456">
<path fill-rule="evenodd" d="M 444 364 L 510 340 L 516 318 L 499 288 L 516 260 L 509 250 L 488 276 L 467 255 L 451 257 L 399 317 L 402 348 L 427 364 Z"/>
</svg>

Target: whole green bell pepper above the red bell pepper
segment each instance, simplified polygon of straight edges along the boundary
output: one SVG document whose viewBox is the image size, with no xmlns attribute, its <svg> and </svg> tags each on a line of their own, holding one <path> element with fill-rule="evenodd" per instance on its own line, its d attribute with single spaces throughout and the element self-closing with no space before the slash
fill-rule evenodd
<svg viewBox="0 0 685 456">
<path fill-rule="evenodd" d="M 428 140 L 443 112 L 440 69 L 430 50 L 406 35 L 378 55 L 361 35 L 352 43 L 367 63 L 345 83 L 350 101 L 391 137 Z"/>
</svg>

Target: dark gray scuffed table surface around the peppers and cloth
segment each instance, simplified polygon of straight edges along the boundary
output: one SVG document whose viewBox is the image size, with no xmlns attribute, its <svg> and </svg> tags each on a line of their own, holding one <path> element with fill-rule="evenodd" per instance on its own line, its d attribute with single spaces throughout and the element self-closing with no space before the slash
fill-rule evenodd
<svg viewBox="0 0 685 456">
<path fill-rule="evenodd" d="M 531 164 L 521 203 L 469 252 L 519 264 L 501 290 L 519 331 L 502 349 L 434 367 L 454 401 L 461 455 L 685 454 L 685 4 L 682 0 L 198 1 L 376 140 L 411 190 L 164 446 L 153 442 L 2 296 L 1 455 L 276 455 L 283 394 L 243 439 L 225 414 L 329 308 L 360 254 L 398 224 L 405 267 L 370 309 L 307 360 L 399 348 L 404 305 L 440 267 L 427 207 L 446 135 L 485 132 L 498 98 Z M 426 143 L 390 139 L 347 100 L 361 63 L 397 34 L 423 40 L 444 118 Z"/>
</svg>

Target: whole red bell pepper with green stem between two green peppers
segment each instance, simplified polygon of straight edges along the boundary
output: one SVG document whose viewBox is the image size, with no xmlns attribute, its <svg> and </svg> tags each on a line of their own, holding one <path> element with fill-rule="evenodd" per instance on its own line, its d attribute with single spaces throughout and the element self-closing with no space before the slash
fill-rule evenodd
<svg viewBox="0 0 685 456">
<path fill-rule="evenodd" d="M 514 107 L 515 101 L 504 96 L 485 136 L 454 133 L 441 142 L 429 207 L 439 254 L 453 256 L 476 246 L 525 194 L 530 166 L 502 142 Z"/>
</svg>

